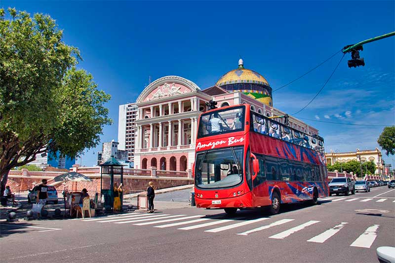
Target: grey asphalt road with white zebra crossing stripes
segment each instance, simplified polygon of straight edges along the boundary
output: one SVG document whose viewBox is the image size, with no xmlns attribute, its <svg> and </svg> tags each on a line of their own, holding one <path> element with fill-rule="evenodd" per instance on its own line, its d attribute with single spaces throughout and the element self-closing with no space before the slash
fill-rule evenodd
<svg viewBox="0 0 395 263">
<path fill-rule="evenodd" d="M 395 247 L 395 189 L 319 205 L 238 211 L 195 207 L 85 220 L 0 222 L 2 262 L 378 262 Z"/>
</svg>

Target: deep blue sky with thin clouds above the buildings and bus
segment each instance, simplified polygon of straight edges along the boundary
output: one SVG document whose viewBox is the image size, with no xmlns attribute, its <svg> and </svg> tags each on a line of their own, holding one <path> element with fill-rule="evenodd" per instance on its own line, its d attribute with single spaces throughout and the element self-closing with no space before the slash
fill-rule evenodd
<svg viewBox="0 0 395 263">
<path fill-rule="evenodd" d="M 0 7 L 46 13 L 80 49 L 79 67 L 112 95 L 114 124 L 103 142 L 118 139 L 118 106 L 134 102 L 164 75 L 188 78 L 204 89 L 244 66 L 273 89 L 304 74 L 347 44 L 395 31 L 394 1 L 10 1 Z M 355 124 L 394 125 L 395 37 L 364 45 L 366 66 L 349 69 L 347 54 L 316 100 L 297 117 Z M 294 113 L 314 97 L 342 54 L 274 92 L 274 106 Z M 383 127 L 306 120 L 325 139 L 325 150 L 374 149 Z M 95 163 L 96 149 L 82 165 Z M 383 152 L 384 154 L 384 152 Z M 385 156 L 392 163 L 394 156 Z"/>
</svg>

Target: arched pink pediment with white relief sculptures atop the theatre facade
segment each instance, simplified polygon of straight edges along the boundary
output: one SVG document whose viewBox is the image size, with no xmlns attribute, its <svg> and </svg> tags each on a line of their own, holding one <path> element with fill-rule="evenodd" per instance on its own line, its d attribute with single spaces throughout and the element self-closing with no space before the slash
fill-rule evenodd
<svg viewBox="0 0 395 263">
<path fill-rule="evenodd" d="M 158 78 L 148 85 L 137 98 L 136 102 L 155 101 L 199 90 L 200 88 L 191 80 L 179 76 L 165 76 Z"/>
</svg>

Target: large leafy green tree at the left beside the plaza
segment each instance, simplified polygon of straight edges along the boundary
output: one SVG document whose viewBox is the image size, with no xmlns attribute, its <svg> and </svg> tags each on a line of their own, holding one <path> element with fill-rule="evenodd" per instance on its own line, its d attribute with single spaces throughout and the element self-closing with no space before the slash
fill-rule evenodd
<svg viewBox="0 0 395 263">
<path fill-rule="evenodd" d="M 48 15 L 0 9 L 0 192 L 8 172 L 59 150 L 74 156 L 99 143 L 112 123 L 92 75 L 76 66 L 76 47 Z"/>
</svg>

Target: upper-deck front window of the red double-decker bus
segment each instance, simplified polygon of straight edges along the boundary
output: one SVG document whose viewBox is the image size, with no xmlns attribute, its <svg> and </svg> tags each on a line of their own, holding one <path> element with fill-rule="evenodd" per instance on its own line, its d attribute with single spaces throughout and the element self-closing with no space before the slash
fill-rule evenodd
<svg viewBox="0 0 395 263">
<path fill-rule="evenodd" d="M 202 114 L 197 138 L 244 130 L 244 109 L 244 106 L 237 106 Z"/>
</svg>

